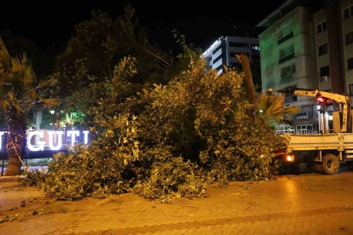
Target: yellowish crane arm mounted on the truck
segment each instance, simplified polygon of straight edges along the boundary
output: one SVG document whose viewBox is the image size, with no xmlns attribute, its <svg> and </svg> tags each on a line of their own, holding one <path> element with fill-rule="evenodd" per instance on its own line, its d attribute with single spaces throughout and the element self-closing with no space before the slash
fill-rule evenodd
<svg viewBox="0 0 353 235">
<path fill-rule="evenodd" d="M 336 93 L 331 93 L 327 91 L 320 91 L 320 90 L 313 90 L 313 89 L 300 89 L 300 88 L 295 88 L 293 90 L 272 90 L 268 89 L 267 93 L 271 92 L 278 92 L 278 93 L 286 93 L 286 94 L 293 94 L 293 95 L 299 95 L 299 96 L 309 96 L 309 97 L 325 97 L 328 99 L 331 99 L 333 101 L 336 101 L 336 103 L 343 104 L 343 115 L 342 115 L 342 128 L 340 132 L 352 132 L 351 130 L 351 121 L 350 121 L 350 116 L 351 116 L 351 97 L 346 94 L 336 94 Z M 342 113 L 342 112 L 340 112 Z"/>
</svg>

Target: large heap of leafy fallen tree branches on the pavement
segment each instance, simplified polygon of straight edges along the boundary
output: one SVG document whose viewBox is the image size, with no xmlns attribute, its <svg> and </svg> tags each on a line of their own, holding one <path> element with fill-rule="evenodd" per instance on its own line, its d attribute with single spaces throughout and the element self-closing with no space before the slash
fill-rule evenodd
<svg viewBox="0 0 353 235">
<path fill-rule="evenodd" d="M 275 172 L 282 144 L 265 119 L 248 118 L 243 74 L 217 76 L 190 57 L 189 69 L 166 85 L 131 84 L 136 58 L 125 57 L 105 83 L 72 97 L 94 134 L 89 146 L 58 153 L 45 192 L 61 200 L 134 191 L 148 199 L 205 195 L 205 185 L 262 180 Z M 76 100 L 75 100 L 76 98 Z"/>
</svg>

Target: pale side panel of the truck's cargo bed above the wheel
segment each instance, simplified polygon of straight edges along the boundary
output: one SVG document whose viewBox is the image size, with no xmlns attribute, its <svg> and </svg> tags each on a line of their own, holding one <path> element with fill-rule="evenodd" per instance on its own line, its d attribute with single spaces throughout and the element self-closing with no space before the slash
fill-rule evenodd
<svg viewBox="0 0 353 235">
<path fill-rule="evenodd" d="M 285 134 L 286 152 L 305 150 L 353 150 L 352 133 Z"/>
</svg>

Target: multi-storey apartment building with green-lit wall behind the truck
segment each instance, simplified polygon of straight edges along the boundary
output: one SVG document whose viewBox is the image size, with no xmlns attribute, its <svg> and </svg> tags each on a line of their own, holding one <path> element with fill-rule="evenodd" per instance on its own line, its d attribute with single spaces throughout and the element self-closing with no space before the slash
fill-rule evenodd
<svg viewBox="0 0 353 235">
<path fill-rule="evenodd" d="M 347 44 L 347 38 L 349 42 L 348 34 L 353 29 L 350 15 L 353 0 L 323 3 L 322 9 L 314 10 L 300 6 L 300 1 L 288 0 L 281 10 L 277 9 L 257 25 L 266 27 L 259 35 L 263 90 L 305 88 L 350 92 L 349 58 L 353 57 L 353 48 Z M 315 98 L 286 95 L 285 106 L 301 106 L 301 109 L 292 117 L 294 128 L 281 126 L 278 131 L 318 133 L 317 105 Z M 326 109 L 329 120 L 333 110 L 339 110 L 336 103 Z"/>
</svg>

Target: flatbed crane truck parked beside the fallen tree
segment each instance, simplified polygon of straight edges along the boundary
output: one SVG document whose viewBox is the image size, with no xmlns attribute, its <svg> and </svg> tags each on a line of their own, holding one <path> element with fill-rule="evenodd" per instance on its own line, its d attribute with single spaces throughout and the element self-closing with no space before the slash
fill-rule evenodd
<svg viewBox="0 0 353 235">
<path fill-rule="evenodd" d="M 340 163 L 353 166 L 353 110 L 351 97 L 347 94 L 336 94 L 321 90 L 300 89 L 272 90 L 282 94 L 292 94 L 315 97 L 323 106 L 332 105 L 335 101 L 339 111 L 333 112 L 333 129 L 328 129 L 327 116 L 323 115 L 323 125 L 319 134 L 290 134 L 283 135 L 283 148 L 275 151 L 275 158 L 285 165 L 302 171 L 306 167 L 315 167 L 318 173 L 333 175 L 339 169 Z"/>
</svg>

